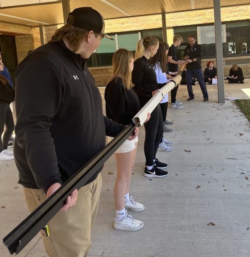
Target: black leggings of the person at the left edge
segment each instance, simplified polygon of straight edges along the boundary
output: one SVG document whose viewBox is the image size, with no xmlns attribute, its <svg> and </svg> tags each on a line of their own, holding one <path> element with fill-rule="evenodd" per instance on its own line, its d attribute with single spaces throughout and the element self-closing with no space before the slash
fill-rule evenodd
<svg viewBox="0 0 250 257">
<path fill-rule="evenodd" d="M 6 129 L 3 134 L 4 125 L 6 126 Z M 0 152 L 8 148 L 9 139 L 13 130 L 14 121 L 9 104 L 0 103 L 0 135 L 3 134 L 3 142 L 2 137 L 0 138 Z"/>
</svg>

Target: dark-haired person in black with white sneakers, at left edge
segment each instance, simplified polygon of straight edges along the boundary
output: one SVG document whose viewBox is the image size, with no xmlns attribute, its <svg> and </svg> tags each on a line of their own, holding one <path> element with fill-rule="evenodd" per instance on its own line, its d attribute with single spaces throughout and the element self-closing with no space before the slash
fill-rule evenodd
<svg viewBox="0 0 250 257">
<path fill-rule="evenodd" d="M 0 62 L 0 71 L 3 71 L 3 63 Z M 14 101 L 15 93 L 9 85 L 9 81 L 0 74 L 0 134 L 3 134 L 4 125 L 6 130 L 3 134 L 3 141 L 0 137 L 0 160 L 13 160 L 13 152 L 7 150 L 10 136 L 14 130 L 14 121 L 9 107 Z"/>
</svg>

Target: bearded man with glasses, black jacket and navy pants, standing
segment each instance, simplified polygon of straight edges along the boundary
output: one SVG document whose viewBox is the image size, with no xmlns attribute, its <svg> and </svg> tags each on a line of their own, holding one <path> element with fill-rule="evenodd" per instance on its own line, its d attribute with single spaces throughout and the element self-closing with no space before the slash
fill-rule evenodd
<svg viewBox="0 0 250 257">
<path fill-rule="evenodd" d="M 202 57 L 202 48 L 196 43 L 194 35 L 188 37 L 189 45 L 186 46 L 184 51 L 184 60 L 187 63 L 186 67 L 186 82 L 188 88 L 189 98 L 187 101 L 194 100 L 194 94 L 192 89 L 192 77 L 195 76 L 199 82 L 200 89 L 203 94 L 204 102 L 208 102 L 208 93 L 206 89 L 206 84 L 203 79 L 202 69 L 201 69 L 201 57 Z"/>
</svg>

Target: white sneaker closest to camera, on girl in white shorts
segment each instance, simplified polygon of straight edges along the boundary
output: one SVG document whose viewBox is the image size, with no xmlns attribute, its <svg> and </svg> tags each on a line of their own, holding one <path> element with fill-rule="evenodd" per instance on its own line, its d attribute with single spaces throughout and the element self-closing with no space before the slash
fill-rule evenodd
<svg viewBox="0 0 250 257">
<path fill-rule="evenodd" d="M 118 230 L 137 231 L 143 228 L 143 225 L 142 221 L 134 219 L 132 215 L 128 215 L 126 210 L 126 214 L 121 221 L 117 221 L 115 218 L 113 228 Z"/>
</svg>

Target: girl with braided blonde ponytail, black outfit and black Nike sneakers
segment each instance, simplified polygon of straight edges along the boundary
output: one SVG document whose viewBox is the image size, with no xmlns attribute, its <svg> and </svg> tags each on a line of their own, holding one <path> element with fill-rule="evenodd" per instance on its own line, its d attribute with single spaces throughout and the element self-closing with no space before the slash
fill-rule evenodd
<svg viewBox="0 0 250 257">
<path fill-rule="evenodd" d="M 159 48 L 159 40 L 153 36 L 140 39 L 136 46 L 134 57 L 134 69 L 132 82 L 135 93 L 138 95 L 141 107 L 143 107 L 158 91 L 158 82 L 154 69 L 149 59 L 153 57 Z M 156 152 L 163 135 L 163 121 L 160 104 L 151 113 L 150 120 L 144 124 L 145 142 L 144 154 L 146 158 L 145 177 L 165 177 L 168 175 L 165 169 L 168 164 L 160 162 L 156 158 Z"/>
</svg>

